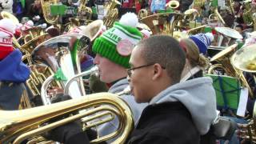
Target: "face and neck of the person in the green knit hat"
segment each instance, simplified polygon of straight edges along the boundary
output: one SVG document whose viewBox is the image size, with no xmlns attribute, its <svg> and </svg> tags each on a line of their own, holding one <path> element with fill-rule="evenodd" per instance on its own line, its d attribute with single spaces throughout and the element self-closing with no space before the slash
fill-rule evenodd
<svg viewBox="0 0 256 144">
<path fill-rule="evenodd" d="M 99 76 L 102 82 L 111 83 L 119 78 L 126 77 L 126 69 L 110 61 L 108 58 L 96 54 L 94 64 L 98 66 Z"/>
</svg>

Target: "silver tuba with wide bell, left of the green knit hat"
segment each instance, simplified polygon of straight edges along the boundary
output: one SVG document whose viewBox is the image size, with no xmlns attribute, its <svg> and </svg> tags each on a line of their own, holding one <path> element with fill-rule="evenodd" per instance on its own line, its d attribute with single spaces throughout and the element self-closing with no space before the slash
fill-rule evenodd
<svg viewBox="0 0 256 144">
<path fill-rule="evenodd" d="M 79 54 L 82 54 L 90 45 L 90 38 L 82 34 L 65 34 L 42 42 L 32 52 L 32 60 L 38 65 L 49 66 L 54 72 L 46 79 L 51 78 L 59 82 L 62 89 L 66 81 L 81 73 Z M 45 82 L 43 83 L 43 85 Z M 44 88 L 44 86 L 42 86 Z M 47 88 L 46 88 L 47 89 Z M 70 97 L 79 98 L 85 95 L 82 78 L 70 84 Z M 43 95 L 46 91 L 41 90 L 41 97 L 44 105 L 50 104 L 50 96 Z M 46 98 L 45 98 L 46 97 Z"/>
</svg>

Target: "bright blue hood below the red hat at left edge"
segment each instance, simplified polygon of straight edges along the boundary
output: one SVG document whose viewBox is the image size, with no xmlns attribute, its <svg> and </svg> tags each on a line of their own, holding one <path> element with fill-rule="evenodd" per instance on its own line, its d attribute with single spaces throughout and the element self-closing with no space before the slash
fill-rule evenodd
<svg viewBox="0 0 256 144">
<path fill-rule="evenodd" d="M 14 50 L 0 61 L 0 81 L 26 82 L 30 69 L 22 62 L 22 53 Z"/>
</svg>

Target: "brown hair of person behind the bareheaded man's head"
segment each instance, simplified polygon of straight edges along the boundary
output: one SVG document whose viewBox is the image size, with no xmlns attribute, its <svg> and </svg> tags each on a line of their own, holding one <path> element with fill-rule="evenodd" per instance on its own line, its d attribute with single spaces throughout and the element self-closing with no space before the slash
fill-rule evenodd
<svg viewBox="0 0 256 144">
<path fill-rule="evenodd" d="M 179 45 L 182 47 L 182 50 L 186 53 L 186 58 L 190 61 L 190 65 L 206 67 L 209 62 L 206 57 L 202 54 L 199 54 L 198 46 L 190 38 L 182 38 L 179 42 Z"/>
</svg>

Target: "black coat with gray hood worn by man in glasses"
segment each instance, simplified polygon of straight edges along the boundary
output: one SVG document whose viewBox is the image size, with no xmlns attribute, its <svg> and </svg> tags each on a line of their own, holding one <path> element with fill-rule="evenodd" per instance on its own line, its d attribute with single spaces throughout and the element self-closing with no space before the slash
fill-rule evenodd
<svg viewBox="0 0 256 144">
<path fill-rule="evenodd" d="M 211 78 L 180 82 L 152 98 L 127 143 L 199 143 L 216 117 Z"/>
</svg>

